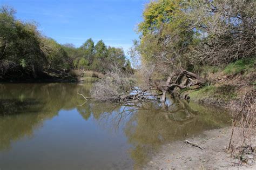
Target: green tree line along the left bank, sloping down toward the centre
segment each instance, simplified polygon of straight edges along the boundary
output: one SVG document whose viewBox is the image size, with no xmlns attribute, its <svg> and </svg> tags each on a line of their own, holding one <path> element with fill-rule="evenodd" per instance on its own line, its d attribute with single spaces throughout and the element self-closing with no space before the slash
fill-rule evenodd
<svg viewBox="0 0 256 170">
<path fill-rule="evenodd" d="M 6 74 L 30 75 L 37 78 L 42 72 L 70 69 L 93 70 L 105 73 L 114 66 L 131 70 L 123 49 L 106 46 L 103 40 L 95 45 L 90 38 L 80 46 L 59 44 L 42 35 L 36 23 L 15 17 L 9 6 L 0 9 L 0 77 Z"/>
</svg>

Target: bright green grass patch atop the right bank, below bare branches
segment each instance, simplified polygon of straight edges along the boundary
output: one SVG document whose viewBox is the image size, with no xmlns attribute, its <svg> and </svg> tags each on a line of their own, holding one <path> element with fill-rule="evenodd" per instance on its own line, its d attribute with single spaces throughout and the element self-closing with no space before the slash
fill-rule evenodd
<svg viewBox="0 0 256 170">
<path fill-rule="evenodd" d="M 225 69 L 225 74 L 236 74 L 240 72 L 244 72 L 248 69 L 253 68 L 253 65 L 255 63 L 255 59 L 240 59 L 237 60 L 237 62 L 228 64 Z"/>
</svg>

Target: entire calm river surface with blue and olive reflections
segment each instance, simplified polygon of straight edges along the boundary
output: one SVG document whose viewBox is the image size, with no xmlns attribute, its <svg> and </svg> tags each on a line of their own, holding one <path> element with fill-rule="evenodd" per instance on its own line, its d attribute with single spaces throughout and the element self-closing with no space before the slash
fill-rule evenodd
<svg viewBox="0 0 256 170">
<path fill-rule="evenodd" d="M 0 169 L 140 169 L 166 143 L 227 126 L 186 101 L 84 100 L 92 84 L 0 84 Z"/>
</svg>

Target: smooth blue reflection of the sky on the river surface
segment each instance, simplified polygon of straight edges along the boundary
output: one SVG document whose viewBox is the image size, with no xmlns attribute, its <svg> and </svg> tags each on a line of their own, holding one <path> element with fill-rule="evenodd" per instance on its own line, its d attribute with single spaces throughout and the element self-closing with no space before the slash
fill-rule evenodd
<svg viewBox="0 0 256 170">
<path fill-rule="evenodd" d="M 76 109 L 60 111 L 33 131 L 33 137 L 25 136 L 8 152 L 0 151 L 0 164 L 3 169 L 131 168 L 126 141 L 122 131 L 111 133 L 93 117 L 85 121 Z"/>
</svg>

